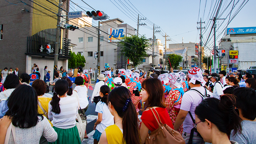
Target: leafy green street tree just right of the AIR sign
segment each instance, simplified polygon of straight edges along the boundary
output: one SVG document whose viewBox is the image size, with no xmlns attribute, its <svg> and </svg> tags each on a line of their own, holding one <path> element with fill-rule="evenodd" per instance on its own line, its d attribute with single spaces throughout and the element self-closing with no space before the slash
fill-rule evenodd
<svg viewBox="0 0 256 144">
<path fill-rule="evenodd" d="M 142 64 L 143 58 L 147 55 L 148 39 L 145 36 L 124 37 L 120 42 L 121 55 L 133 62 L 133 67 Z"/>
</svg>

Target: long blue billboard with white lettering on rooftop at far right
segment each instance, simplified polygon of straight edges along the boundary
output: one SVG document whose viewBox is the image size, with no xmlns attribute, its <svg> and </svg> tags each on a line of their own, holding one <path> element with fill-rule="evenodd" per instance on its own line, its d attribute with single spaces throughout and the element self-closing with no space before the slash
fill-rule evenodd
<svg viewBox="0 0 256 144">
<path fill-rule="evenodd" d="M 256 27 L 227 28 L 227 34 L 255 34 Z"/>
</svg>

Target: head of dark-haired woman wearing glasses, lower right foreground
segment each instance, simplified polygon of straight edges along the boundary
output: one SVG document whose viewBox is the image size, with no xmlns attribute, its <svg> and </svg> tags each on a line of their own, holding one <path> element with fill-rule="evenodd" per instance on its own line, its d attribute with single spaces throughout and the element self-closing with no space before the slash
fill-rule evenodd
<svg viewBox="0 0 256 144">
<path fill-rule="evenodd" d="M 196 123 L 193 126 L 205 142 L 212 144 L 238 144 L 229 141 L 231 131 L 241 133 L 241 118 L 235 111 L 236 98 L 231 94 L 216 98 L 204 99 L 195 110 Z"/>
</svg>

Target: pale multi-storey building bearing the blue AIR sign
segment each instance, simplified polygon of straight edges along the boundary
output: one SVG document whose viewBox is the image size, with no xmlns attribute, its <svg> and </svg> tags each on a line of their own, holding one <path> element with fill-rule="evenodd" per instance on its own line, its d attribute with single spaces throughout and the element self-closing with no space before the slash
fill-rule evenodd
<svg viewBox="0 0 256 144">
<path fill-rule="evenodd" d="M 97 21 L 98 22 L 98 21 Z M 123 24 L 124 21 L 118 18 L 112 20 L 105 20 L 100 22 L 100 69 L 104 70 L 105 64 L 109 68 L 127 68 L 127 60 L 120 56 L 120 47 L 118 39 L 124 36 L 131 36 L 135 34 L 134 28 L 128 24 Z M 82 30 L 82 31 L 81 31 Z M 96 28 L 86 25 L 79 30 L 69 31 L 69 39 L 77 46 L 73 47 L 73 52 L 81 53 L 85 60 L 84 69 L 97 69 L 97 60 L 94 58 L 94 52 L 98 49 L 98 32 Z M 109 36 L 111 35 L 111 36 Z"/>
</svg>

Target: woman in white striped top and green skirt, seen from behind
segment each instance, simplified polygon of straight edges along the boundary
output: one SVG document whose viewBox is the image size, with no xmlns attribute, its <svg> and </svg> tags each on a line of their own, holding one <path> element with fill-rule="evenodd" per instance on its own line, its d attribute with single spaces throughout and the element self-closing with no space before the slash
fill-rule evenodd
<svg viewBox="0 0 256 144">
<path fill-rule="evenodd" d="M 72 95 L 72 88 L 68 82 L 60 79 L 55 83 L 56 94 L 49 103 L 49 120 L 53 120 L 53 129 L 58 133 L 58 139 L 49 144 L 81 144 L 79 133 L 76 127 L 78 115 L 78 101 Z"/>
</svg>

